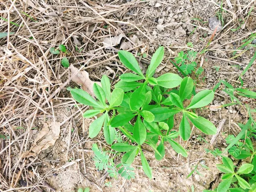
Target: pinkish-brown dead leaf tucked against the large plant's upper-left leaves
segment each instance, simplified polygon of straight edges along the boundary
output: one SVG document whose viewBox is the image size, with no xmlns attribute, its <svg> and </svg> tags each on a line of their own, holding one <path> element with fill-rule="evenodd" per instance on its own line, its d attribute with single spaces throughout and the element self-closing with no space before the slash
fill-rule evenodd
<svg viewBox="0 0 256 192">
<path fill-rule="evenodd" d="M 73 66 L 73 64 L 70 65 L 71 70 L 71 76 L 78 71 L 76 67 Z M 76 82 L 77 84 L 80 84 L 82 86 L 82 90 L 86 91 L 87 93 L 91 94 L 95 97 L 93 93 L 93 84 L 97 83 L 101 86 L 101 83 L 98 81 L 92 81 L 89 78 L 89 74 L 87 71 L 79 71 L 79 73 L 71 79 L 72 81 Z"/>
</svg>

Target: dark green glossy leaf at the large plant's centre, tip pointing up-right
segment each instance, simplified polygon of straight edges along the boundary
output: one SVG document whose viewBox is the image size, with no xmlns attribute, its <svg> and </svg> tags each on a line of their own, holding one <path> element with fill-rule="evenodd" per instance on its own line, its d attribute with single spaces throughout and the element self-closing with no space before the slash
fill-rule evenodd
<svg viewBox="0 0 256 192">
<path fill-rule="evenodd" d="M 143 84 L 131 93 L 129 105 L 132 111 L 136 111 L 145 103 L 146 84 Z"/>
</svg>

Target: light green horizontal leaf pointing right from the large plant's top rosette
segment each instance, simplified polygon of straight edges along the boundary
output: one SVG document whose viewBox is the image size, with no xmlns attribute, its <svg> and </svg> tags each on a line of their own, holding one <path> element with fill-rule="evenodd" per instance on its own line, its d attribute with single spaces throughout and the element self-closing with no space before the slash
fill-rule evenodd
<svg viewBox="0 0 256 192">
<path fill-rule="evenodd" d="M 157 84 L 165 88 L 173 88 L 180 85 L 182 78 L 174 73 L 166 73 L 157 78 Z"/>
</svg>

